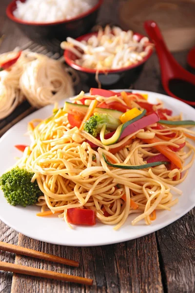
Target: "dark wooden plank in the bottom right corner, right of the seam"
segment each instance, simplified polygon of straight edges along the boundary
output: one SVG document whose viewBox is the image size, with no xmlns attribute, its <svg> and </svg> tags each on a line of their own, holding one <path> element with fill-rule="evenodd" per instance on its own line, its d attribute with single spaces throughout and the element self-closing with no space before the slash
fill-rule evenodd
<svg viewBox="0 0 195 293">
<path fill-rule="evenodd" d="M 195 209 L 156 232 L 168 293 L 195 292 Z"/>
</svg>

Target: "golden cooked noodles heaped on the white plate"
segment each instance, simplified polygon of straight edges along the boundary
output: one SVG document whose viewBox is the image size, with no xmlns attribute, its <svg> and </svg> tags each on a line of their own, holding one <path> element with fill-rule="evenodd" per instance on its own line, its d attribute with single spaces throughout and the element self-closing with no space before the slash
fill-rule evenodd
<svg viewBox="0 0 195 293">
<path fill-rule="evenodd" d="M 82 97 L 83 93 L 73 100 L 79 101 Z M 120 101 L 124 104 L 122 98 L 117 96 L 91 98 L 106 103 Z M 138 102 L 139 99 L 136 99 Z M 162 102 L 157 107 L 162 108 Z M 174 120 L 174 117 L 168 118 Z M 35 124 L 35 121 L 32 123 Z M 131 213 L 139 213 L 133 220 L 133 225 L 142 219 L 146 224 L 151 224 L 150 215 L 154 211 L 170 211 L 178 202 L 174 194 L 181 195 L 182 192 L 175 186 L 185 180 L 188 169 L 195 159 L 195 147 L 186 141 L 186 132 L 195 134 L 184 126 L 166 126 L 163 130 L 148 126 L 116 144 L 104 146 L 84 130 L 71 128 L 67 114 L 59 109 L 53 117 L 40 122 L 31 130 L 32 144 L 26 147 L 17 165 L 35 173 L 32 180 L 37 180 L 44 194 L 39 197 L 37 204 L 41 211 L 63 210 L 59 217 L 66 220 L 67 209 L 93 209 L 101 223 L 115 225 L 115 230 L 125 223 Z M 148 138 L 148 133 L 152 133 L 153 136 L 176 133 L 174 138 L 169 141 L 162 140 L 160 145 L 177 147 L 178 144 L 186 142 L 185 149 L 177 152 L 183 163 L 182 169 L 170 170 L 163 164 L 145 169 L 121 169 L 107 165 L 103 154 L 117 164 L 127 165 L 144 165 L 146 158 L 159 154 L 153 147 L 158 143 L 143 143 L 142 139 Z M 133 135 L 135 138 L 130 145 L 116 154 L 109 151 L 123 145 Z M 98 148 L 92 148 L 86 139 L 97 144 Z M 124 194 L 126 202 L 121 199 Z M 131 200 L 138 205 L 138 209 L 132 208 Z"/>
</svg>

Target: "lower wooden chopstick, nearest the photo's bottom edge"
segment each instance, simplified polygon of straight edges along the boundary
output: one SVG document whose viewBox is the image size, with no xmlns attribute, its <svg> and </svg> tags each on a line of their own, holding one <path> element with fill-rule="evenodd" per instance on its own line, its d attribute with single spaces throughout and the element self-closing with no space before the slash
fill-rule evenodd
<svg viewBox="0 0 195 293">
<path fill-rule="evenodd" d="M 37 276 L 37 277 L 44 277 L 48 279 L 56 279 L 56 280 L 61 280 L 66 282 L 84 284 L 84 285 L 93 284 L 92 279 L 68 275 L 65 273 L 51 272 L 51 271 L 45 271 L 45 270 L 36 269 L 36 268 L 20 266 L 20 265 L 11 264 L 7 262 L 3 262 L 3 261 L 0 261 L 0 270 L 7 271 L 7 272 L 27 274 L 31 276 Z"/>
</svg>

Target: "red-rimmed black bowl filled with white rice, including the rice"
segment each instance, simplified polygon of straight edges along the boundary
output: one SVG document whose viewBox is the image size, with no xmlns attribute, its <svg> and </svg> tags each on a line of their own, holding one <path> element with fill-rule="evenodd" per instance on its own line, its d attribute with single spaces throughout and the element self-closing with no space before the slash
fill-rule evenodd
<svg viewBox="0 0 195 293">
<path fill-rule="evenodd" d="M 95 25 L 103 0 L 13 0 L 7 17 L 33 41 L 77 38 Z"/>
</svg>

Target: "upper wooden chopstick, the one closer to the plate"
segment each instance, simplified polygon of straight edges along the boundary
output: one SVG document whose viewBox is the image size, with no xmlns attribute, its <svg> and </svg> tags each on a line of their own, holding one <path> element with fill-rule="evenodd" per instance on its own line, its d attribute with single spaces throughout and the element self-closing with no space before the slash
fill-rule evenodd
<svg viewBox="0 0 195 293">
<path fill-rule="evenodd" d="M 69 265 L 72 267 L 78 268 L 79 266 L 79 262 L 75 260 L 70 260 L 63 257 L 47 254 L 41 251 L 34 251 L 25 247 L 13 245 L 13 244 L 1 242 L 1 241 L 0 241 L 0 250 L 14 252 L 16 254 L 26 255 L 26 256 L 44 259 L 48 261 L 53 261 L 59 264 Z"/>
</svg>

